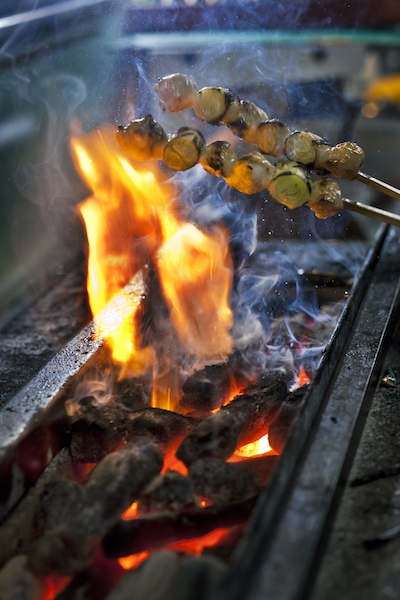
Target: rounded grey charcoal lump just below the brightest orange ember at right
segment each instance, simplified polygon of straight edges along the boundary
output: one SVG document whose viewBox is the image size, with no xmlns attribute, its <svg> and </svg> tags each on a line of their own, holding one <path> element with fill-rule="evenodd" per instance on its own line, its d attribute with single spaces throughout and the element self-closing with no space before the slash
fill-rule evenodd
<svg viewBox="0 0 400 600">
<path fill-rule="evenodd" d="M 255 496 L 258 487 L 252 473 L 237 463 L 202 458 L 189 469 L 194 491 L 214 504 L 228 504 Z"/>
</svg>

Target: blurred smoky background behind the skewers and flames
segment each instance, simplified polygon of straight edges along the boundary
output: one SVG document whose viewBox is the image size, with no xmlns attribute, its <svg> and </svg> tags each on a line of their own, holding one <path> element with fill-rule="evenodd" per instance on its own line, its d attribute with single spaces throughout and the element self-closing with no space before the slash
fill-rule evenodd
<svg viewBox="0 0 400 600">
<path fill-rule="evenodd" d="M 231 88 L 291 129 L 333 144 L 355 141 L 366 152 L 363 171 L 400 186 L 399 25 L 395 0 L 379 10 L 367 0 L 3 0 L 0 325 L 83 259 L 75 207 L 87 190 L 71 163 L 71 130 L 151 113 L 168 133 L 191 124 L 209 141 L 230 139 L 191 110 L 161 111 L 153 85 L 171 73 L 199 88 Z M 259 214 L 261 237 L 371 240 L 378 226 L 353 214 L 318 221 L 307 207 L 277 205 L 267 191 L 244 200 L 206 178 L 199 195 L 217 189 L 233 204 L 246 202 Z M 397 201 L 361 183 L 342 189 L 399 212 Z"/>
</svg>

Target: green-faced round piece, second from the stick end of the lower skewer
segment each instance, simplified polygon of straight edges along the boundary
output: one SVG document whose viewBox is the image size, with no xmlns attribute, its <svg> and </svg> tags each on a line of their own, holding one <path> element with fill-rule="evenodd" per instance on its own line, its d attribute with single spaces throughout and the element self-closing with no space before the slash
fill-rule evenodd
<svg viewBox="0 0 400 600">
<path fill-rule="evenodd" d="M 278 161 L 269 186 L 271 196 L 289 208 L 297 208 L 311 196 L 309 173 L 297 162 Z"/>
</svg>

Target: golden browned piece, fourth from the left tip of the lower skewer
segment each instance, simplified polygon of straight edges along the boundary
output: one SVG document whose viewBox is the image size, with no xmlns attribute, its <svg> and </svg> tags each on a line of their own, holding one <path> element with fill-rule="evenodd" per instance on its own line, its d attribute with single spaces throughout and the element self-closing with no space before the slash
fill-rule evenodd
<svg viewBox="0 0 400 600">
<path fill-rule="evenodd" d="M 274 167 L 265 156 L 260 152 L 249 152 L 235 162 L 226 182 L 239 192 L 255 194 L 269 186 L 273 172 Z"/>
</svg>

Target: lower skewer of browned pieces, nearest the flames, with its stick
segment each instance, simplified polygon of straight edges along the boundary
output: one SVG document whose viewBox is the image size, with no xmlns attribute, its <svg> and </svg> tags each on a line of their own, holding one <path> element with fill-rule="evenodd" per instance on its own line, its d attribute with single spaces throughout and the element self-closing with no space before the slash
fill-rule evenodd
<svg viewBox="0 0 400 600">
<path fill-rule="evenodd" d="M 319 219 L 348 208 L 386 223 L 400 226 L 400 217 L 359 202 L 342 198 L 339 183 L 331 177 L 312 181 L 309 170 L 296 161 L 278 161 L 272 165 L 261 152 L 253 151 L 238 158 L 226 141 L 206 144 L 196 129 L 181 127 L 167 136 L 151 115 L 120 126 L 116 134 L 121 148 L 135 160 L 164 159 L 176 171 L 185 171 L 199 163 L 213 175 L 245 194 L 268 189 L 271 196 L 288 208 L 303 204 Z"/>
</svg>

